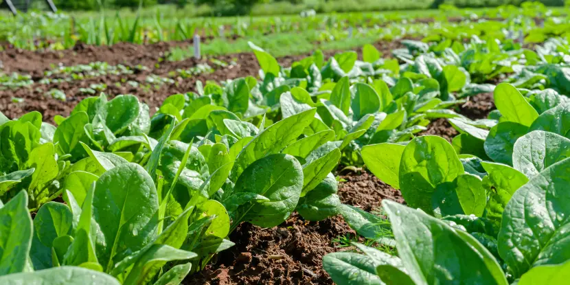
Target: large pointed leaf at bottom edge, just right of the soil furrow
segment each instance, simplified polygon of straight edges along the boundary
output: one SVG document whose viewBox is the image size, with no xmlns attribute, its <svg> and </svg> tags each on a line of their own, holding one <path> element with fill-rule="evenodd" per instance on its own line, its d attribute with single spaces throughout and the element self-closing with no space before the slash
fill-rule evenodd
<svg viewBox="0 0 570 285">
<path fill-rule="evenodd" d="M 387 200 L 382 204 L 415 284 L 508 284 L 497 260 L 468 233 L 418 209 Z"/>
</svg>

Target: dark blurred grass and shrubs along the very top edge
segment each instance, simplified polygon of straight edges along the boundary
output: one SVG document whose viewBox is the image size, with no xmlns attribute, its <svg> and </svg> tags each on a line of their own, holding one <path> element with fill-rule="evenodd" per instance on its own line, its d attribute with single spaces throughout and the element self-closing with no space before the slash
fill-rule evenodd
<svg viewBox="0 0 570 285">
<path fill-rule="evenodd" d="M 1 0 L 0 0 L 1 1 Z M 12 2 L 30 0 L 12 0 Z M 32 8 L 41 9 L 43 0 L 31 0 Z M 172 5 L 188 16 L 236 16 L 298 14 L 315 10 L 326 12 L 372 12 L 438 8 L 442 4 L 458 8 L 484 8 L 520 5 L 525 0 L 53 0 L 60 10 L 137 9 L 139 5 Z M 564 6 L 565 0 L 539 0 L 549 6 Z M 566 0 L 568 2 L 568 0 Z"/>
</svg>

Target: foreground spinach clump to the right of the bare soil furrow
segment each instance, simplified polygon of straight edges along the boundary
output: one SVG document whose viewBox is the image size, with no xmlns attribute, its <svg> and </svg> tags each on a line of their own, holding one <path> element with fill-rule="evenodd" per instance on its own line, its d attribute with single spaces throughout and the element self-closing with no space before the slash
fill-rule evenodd
<svg viewBox="0 0 570 285">
<path fill-rule="evenodd" d="M 331 253 L 325 269 L 338 284 L 565 284 L 570 262 L 567 207 L 570 102 L 554 89 L 494 89 L 494 126 L 448 121 L 459 131 L 409 144 L 365 146 L 363 159 L 409 207 L 383 201 L 382 218 L 344 206 L 362 236 L 391 244 L 398 256 L 354 244 Z"/>
</svg>

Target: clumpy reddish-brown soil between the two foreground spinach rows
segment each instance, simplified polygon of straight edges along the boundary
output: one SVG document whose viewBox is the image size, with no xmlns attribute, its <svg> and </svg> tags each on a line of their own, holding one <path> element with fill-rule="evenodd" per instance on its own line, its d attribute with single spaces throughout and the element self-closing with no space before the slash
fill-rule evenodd
<svg viewBox="0 0 570 285">
<path fill-rule="evenodd" d="M 347 205 L 372 211 L 384 198 L 404 203 L 398 190 L 367 172 L 341 178 L 339 196 Z M 347 234 L 355 233 L 342 216 L 308 222 L 295 213 L 271 229 L 242 223 L 229 236 L 236 245 L 184 284 L 333 284 L 323 270 L 323 256 L 346 250 L 333 240 Z"/>
</svg>

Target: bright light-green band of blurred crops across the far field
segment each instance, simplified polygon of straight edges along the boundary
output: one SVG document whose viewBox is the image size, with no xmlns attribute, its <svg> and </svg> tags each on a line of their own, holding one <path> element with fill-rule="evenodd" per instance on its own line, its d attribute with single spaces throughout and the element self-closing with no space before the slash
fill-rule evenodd
<svg viewBox="0 0 570 285">
<path fill-rule="evenodd" d="M 445 16 L 441 16 L 442 14 Z M 424 21 L 426 19 L 429 21 Z M 537 19 L 543 23 L 535 23 Z M 247 49 L 247 41 L 268 41 L 271 42 L 271 52 L 277 54 L 283 52 L 282 46 L 281 49 L 277 47 L 286 42 L 285 39 L 297 42 L 293 45 L 297 49 L 288 47 L 287 52 L 299 52 L 299 42 L 305 45 L 316 42 L 350 45 L 344 41 L 353 36 L 368 43 L 404 35 L 444 34 L 447 38 L 469 38 L 472 34 L 488 34 L 497 37 L 497 30 L 512 30 L 514 27 L 516 33 L 522 30 L 529 43 L 537 43 L 544 41 L 549 35 L 563 34 L 567 30 L 564 27 L 568 25 L 568 19 L 562 10 L 545 8 L 541 3 L 525 3 L 522 8 L 503 6 L 484 10 L 446 9 L 404 14 L 347 13 L 308 17 L 187 19 L 186 14 L 176 15 L 175 11 L 152 14 L 137 12 L 123 16 L 104 12 L 89 16 L 30 14 L 14 18 L 3 17 L 0 18 L 0 23 L 0 39 L 23 49 L 69 49 L 78 41 L 90 45 L 185 41 L 190 40 L 194 34 L 200 34 L 206 38 L 216 38 L 215 45 L 231 49 L 225 53 Z M 458 25 L 460 27 L 457 27 Z M 486 30 L 484 25 L 498 26 L 499 29 Z M 352 28 L 354 32 L 348 32 Z M 492 30 L 494 31 L 489 33 Z M 237 43 L 233 43 L 236 39 Z M 215 49 L 214 43 L 212 45 L 209 49 Z M 273 48 L 274 45 L 276 48 Z M 266 49 L 269 48 L 270 44 L 266 43 Z M 309 49 L 315 47 L 311 46 Z M 210 52 L 221 53 L 219 48 Z"/>
</svg>

